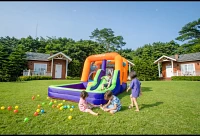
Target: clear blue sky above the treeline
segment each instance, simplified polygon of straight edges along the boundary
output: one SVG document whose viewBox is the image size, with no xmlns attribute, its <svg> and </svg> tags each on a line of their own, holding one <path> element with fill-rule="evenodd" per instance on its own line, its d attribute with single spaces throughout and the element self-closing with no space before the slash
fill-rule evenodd
<svg viewBox="0 0 200 136">
<path fill-rule="evenodd" d="M 198 1 L 0 2 L 0 37 L 56 36 L 78 41 L 89 40 L 96 28 L 111 28 L 116 36 L 123 36 L 124 48 L 135 50 L 175 40 L 184 25 L 200 18 L 199 7 Z"/>
</svg>

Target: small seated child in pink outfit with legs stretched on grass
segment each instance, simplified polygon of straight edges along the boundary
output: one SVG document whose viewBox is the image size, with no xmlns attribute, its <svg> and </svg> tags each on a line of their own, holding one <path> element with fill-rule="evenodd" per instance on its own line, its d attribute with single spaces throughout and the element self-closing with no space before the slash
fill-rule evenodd
<svg viewBox="0 0 200 136">
<path fill-rule="evenodd" d="M 86 91 L 81 92 L 81 98 L 79 100 L 79 110 L 82 112 L 89 112 L 92 115 L 98 116 L 98 113 L 93 112 L 91 109 L 94 107 L 86 101 L 88 93 Z"/>
</svg>

